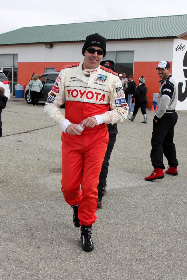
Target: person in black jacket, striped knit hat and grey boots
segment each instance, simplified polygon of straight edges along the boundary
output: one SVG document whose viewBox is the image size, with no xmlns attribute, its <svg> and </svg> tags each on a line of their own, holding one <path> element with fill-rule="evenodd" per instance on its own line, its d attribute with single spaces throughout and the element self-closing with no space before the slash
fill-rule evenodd
<svg viewBox="0 0 187 280">
<path fill-rule="evenodd" d="M 147 105 L 147 87 L 145 86 L 145 78 L 142 76 L 139 78 L 139 86 L 136 88 L 135 93 L 132 95 L 132 99 L 135 99 L 134 111 L 132 117 L 128 117 L 130 121 L 134 121 L 136 114 L 138 113 L 138 109 L 141 108 L 142 115 L 144 115 L 144 120 L 142 123 L 147 123 L 147 113 L 146 113 L 146 105 Z"/>
</svg>

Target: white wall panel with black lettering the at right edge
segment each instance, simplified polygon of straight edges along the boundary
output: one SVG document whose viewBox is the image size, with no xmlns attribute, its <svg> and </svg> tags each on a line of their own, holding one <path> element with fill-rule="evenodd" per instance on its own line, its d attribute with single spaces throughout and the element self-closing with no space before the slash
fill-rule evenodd
<svg viewBox="0 0 187 280">
<path fill-rule="evenodd" d="M 176 110 L 187 110 L 187 41 L 174 39 L 172 77 L 178 84 Z"/>
</svg>

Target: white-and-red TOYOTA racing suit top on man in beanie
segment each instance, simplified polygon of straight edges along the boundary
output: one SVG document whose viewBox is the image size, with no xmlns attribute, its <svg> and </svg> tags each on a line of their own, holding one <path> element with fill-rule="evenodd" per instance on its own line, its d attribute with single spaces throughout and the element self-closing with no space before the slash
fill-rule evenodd
<svg viewBox="0 0 187 280">
<path fill-rule="evenodd" d="M 103 66 L 82 70 L 83 62 L 63 67 L 48 94 L 45 113 L 62 127 L 66 123 L 65 129 L 70 123 L 78 124 L 92 116 L 101 127 L 122 123 L 128 105 L 118 74 Z M 85 75 L 90 75 L 89 79 Z M 65 116 L 59 109 L 64 102 Z"/>
</svg>

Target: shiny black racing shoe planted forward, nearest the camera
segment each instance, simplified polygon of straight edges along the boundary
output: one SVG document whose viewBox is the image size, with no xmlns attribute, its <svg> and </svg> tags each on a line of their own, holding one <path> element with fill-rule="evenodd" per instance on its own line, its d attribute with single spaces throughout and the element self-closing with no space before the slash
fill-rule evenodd
<svg viewBox="0 0 187 280">
<path fill-rule="evenodd" d="M 91 241 L 91 226 L 87 227 L 85 225 L 81 226 L 81 242 L 82 242 L 82 249 L 86 252 L 90 252 L 94 248 L 94 244 Z"/>
</svg>

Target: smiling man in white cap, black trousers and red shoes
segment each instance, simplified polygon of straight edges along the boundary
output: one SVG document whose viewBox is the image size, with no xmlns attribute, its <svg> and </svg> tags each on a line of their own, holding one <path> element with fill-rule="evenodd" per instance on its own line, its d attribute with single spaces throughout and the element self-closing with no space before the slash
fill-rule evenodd
<svg viewBox="0 0 187 280">
<path fill-rule="evenodd" d="M 174 126 L 177 122 L 176 104 L 178 100 L 178 87 L 170 74 L 171 66 L 168 61 L 158 63 L 158 75 L 160 77 L 160 91 L 158 94 L 157 111 L 153 119 L 153 132 L 151 139 L 151 162 L 154 167 L 147 181 L 164 178 L 165 166 L 163 153 L 168 160 L 167 174 L 178 175 L 178 161 L 176 158 L 175 144 L 173 143 Z"/>
</svg>

